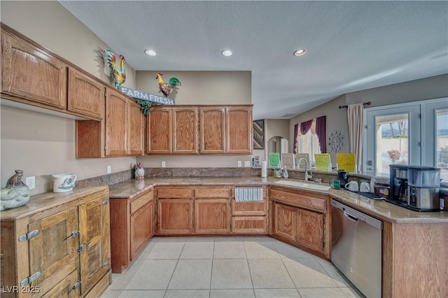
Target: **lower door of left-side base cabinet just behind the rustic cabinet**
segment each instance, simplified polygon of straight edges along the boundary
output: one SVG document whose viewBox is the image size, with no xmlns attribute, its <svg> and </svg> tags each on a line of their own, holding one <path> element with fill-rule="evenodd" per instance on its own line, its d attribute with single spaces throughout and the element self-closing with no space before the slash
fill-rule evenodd
<svg viewBox="0 0 448 298">
<path fill-rule="evenodd" d="M 154 201 L 131 215 L 131 261 L 153 236 Z"/>
</svg>

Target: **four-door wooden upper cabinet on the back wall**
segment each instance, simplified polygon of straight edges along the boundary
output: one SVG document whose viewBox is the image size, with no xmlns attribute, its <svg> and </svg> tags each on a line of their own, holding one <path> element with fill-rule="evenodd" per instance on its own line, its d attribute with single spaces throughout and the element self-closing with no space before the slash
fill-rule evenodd
<svg viewBox="0 0 448 298">
<path fill-rule="evenodd" d="M 252 106 L 154 106 L 147 154 L 251 154 Z"/>
</svg>

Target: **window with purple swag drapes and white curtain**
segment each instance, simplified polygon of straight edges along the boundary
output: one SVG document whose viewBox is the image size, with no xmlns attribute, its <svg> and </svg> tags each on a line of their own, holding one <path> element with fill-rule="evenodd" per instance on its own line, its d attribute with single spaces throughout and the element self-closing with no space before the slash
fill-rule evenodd
<svg viewBox="0 0 448 298">
<path fill-rule="evenodd" d="M 294 153 L 308 153 L 312 164 L 315 153 L 326 153 L 325 119 L 322 116 L 294 126 Z"/>
</svg>

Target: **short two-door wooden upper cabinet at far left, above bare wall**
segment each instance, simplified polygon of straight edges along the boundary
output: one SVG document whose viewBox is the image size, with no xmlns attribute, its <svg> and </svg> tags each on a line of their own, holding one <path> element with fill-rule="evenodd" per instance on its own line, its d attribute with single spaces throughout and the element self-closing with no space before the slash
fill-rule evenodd
<svg viewBox="0 0 448 298">
<path fill-rule="evenodd" d="M 1 24 L 1 97 L 91 120 L 104 118 L 106 84 Z"/>
</svg>

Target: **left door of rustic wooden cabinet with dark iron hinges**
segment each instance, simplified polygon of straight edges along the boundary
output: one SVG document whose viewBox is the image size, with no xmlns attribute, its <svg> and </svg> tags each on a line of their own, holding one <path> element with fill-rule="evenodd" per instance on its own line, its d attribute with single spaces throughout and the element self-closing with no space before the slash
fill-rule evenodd
<svg viewBox="0 0 448 298">
<path fill-rule="evenodd" d="M 29 225 L 29 232 L 38 230 L 39 234 L 29 240 L 30 275 L 37 271 L 41 275 L 31 283 L 39 289 L 39 297 L 55 286 L 71 272 L 78 262 L 78 236 L 71 233 L 78 229 L 78 210 L 76 207 L 62 211 Z M 38 293 L 37 293 L 38 294 Z"/>
</svg>

